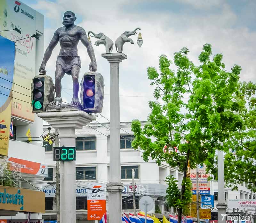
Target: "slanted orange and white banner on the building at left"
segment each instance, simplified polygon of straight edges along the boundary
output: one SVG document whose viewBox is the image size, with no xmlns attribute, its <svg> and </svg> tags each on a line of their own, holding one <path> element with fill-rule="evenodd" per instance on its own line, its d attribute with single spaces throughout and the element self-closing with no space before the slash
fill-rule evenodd
<svg viewBox="0 0 256 223">
<path fill-rule="evenodd" d="M 8 169 L 13 172 L 40 175 L 44 177 L 47 177 L 48 175 L 48 168 L 45 164 L 36 163 L 28 160 L 21 160 L 14 157 L 8 157 L 6 162 Z"/>
</svg>

